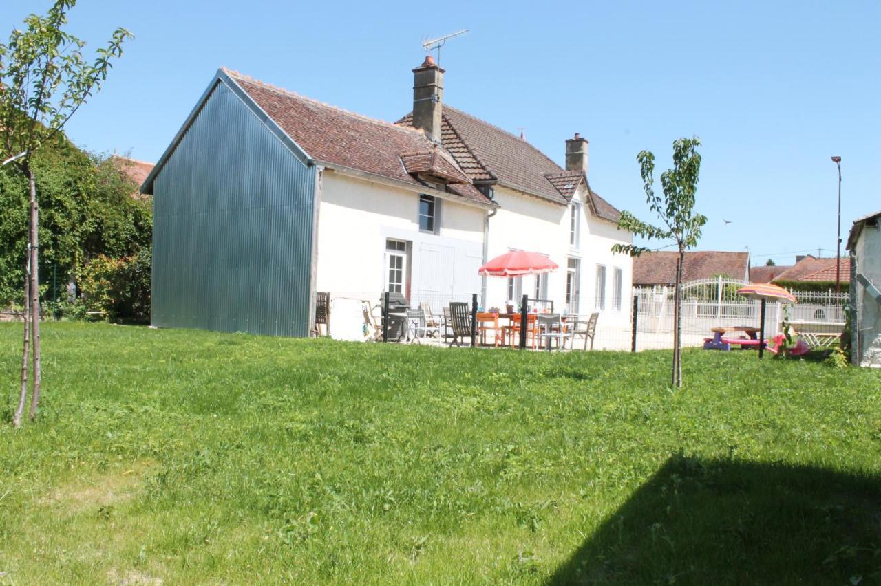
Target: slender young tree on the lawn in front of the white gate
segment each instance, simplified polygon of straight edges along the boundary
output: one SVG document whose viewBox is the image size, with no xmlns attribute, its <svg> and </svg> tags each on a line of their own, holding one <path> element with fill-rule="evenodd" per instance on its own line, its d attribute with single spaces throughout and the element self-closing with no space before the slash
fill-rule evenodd
<svg viewBox="0 0 881 586">
<path fill-rule="evenodd" d="M 694 212 L 695 194 L 700 174 L 700 139 L 680 138 L 673 143 L 673 168 L 661 174 L 663 198 L 655 194 L 655 155 L 643 150 L 636 156 L 646 191 L 646 201 L 663 222 L 663 227 L 642 222 L 630 212 L 622 212 L 618 229 L 633 232 L 648 240 L 672 240 L 679 253 L 676 263 L 676 285 L 673 303 L 673 376 L 672 384 L 682 386 L 682 267 L 685 250 L 697 245 L 707 217 Z M 650 249 L 638 245 L 614 245 L 612 252 L 639 256 Z"/>
</svg>

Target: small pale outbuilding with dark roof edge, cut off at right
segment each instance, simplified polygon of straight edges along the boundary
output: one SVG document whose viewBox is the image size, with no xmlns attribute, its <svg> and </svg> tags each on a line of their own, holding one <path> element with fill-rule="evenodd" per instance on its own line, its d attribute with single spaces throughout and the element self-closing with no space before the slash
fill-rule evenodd
<svg viewBox="0 0 881 586">
<path fill-rule="evenodd" d="M 881 368 L 881 210 L 854 222 L 848 237 L 853 263 L 850 303 L 855 314 L 851 325 L 855 364 Z"/>
</svg>

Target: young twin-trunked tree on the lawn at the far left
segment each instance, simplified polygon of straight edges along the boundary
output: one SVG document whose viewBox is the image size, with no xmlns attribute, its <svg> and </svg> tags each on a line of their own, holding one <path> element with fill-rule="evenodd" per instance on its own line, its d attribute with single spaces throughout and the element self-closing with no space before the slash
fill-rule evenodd
<svg viewBox="0 0 881 586">
<path fill-rule="evenodd" d="M 13 29 L 0 43 L 0 148 L 4 165 L 13 164 L 28 183 L 28 231 L 25 336 L 22 351 L 19 405 L 12 422 L 21 424 L 27 395 L 28 353 L 33 344 L 33 391 L 30 418 L 40 405 L 40 245 L 35 155 L 53 140 L 80 106 L 100 90 L 112 62 L 122 55 L 122 43 L 131 37 L 117 28 L 107 46 L 92 62 L 83 55 L 85 41 L 63 31 L 76 0 L 56 0 L 45 16 L 25 18 L 24 30 Z"/>
</svg>

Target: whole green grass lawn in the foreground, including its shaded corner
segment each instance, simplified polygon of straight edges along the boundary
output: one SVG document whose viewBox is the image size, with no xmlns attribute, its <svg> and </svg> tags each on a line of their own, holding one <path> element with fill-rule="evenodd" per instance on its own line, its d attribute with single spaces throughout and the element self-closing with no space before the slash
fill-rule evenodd
<svg viewBox="0 0 881 586">
<path fill-rule="evenodd" d="M 881 582 L 881 372 L 50 323 L 16 431 L 19 339 L 0 583 Z"/>
</svg>

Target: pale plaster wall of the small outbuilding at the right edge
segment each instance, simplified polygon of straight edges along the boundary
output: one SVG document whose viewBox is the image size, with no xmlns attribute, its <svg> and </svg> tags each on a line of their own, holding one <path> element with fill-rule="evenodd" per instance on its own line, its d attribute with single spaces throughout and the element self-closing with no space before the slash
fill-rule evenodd
<svg viewBox="0 0 881 586">
<path fill-rule="evenodd" d="M 881 287 L 881 230 L 864 226 L 855 246 L 857 271 Z M 855 282 L 859 314 L 860 364 L 881 368 L 881 306 Z"/>
</svg>

